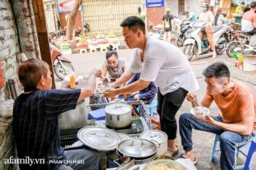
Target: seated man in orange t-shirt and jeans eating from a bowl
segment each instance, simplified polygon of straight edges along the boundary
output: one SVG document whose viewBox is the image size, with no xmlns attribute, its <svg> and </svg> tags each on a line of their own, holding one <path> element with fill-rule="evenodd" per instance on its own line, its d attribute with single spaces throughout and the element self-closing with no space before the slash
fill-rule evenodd
<svg viewBox="0 0 256 170">
<path fill-rule="evenodd" d="M 206 116 L 195 118 L 191 113 L 184 113 L 179 119 L 181 144 L 184 147 L 184 158 L 196 163 L 192 152 L 192 129 L 208 131 L 219 135 L 220 166 L 222 170 L 234 169 L 236 147 L 246 144 L 255 136 L 256 99 L 249 86 L 230 80 L 230 71 L 225 63 L 217 62 L 208 66 L 203 75 L 206 77 L 206 96 L 201 105 L 210 107 L 215 101 L 222 114 L 217 117 Z M 197 97 L 189 93 L 187 100 L 192 107 L 197 107 Z"/>
</svg>

